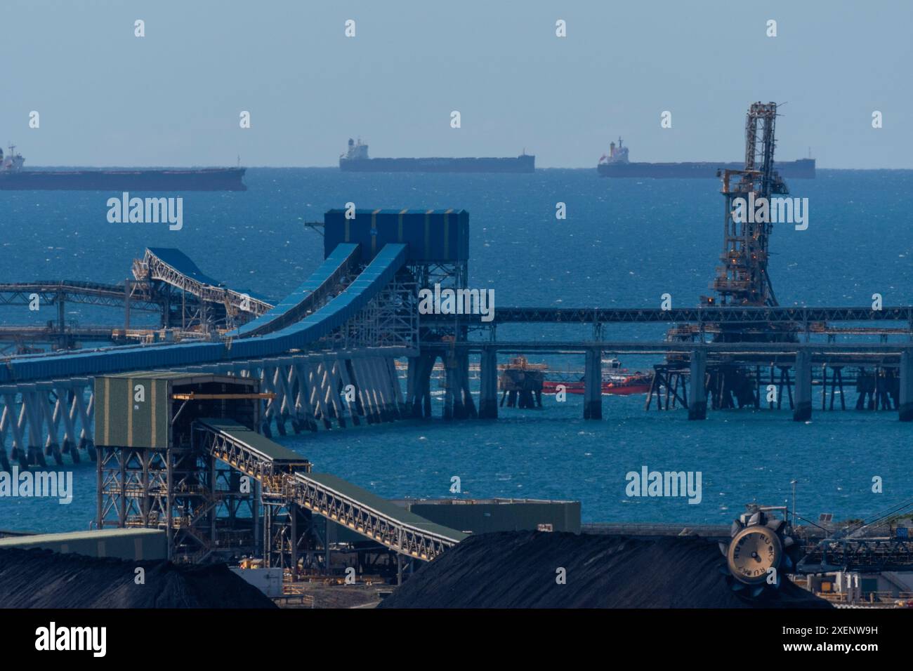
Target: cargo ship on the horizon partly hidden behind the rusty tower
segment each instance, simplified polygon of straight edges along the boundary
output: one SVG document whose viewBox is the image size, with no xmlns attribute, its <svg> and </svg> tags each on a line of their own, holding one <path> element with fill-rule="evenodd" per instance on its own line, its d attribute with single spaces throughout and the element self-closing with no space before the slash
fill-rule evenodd
<svg viewBox="0 0 913 671">
<path fill-rule="evenodd" d="M 628 161 L 628 148 L 612 142 L 609 153 L 603 154 L 596 165 L 600 177 L 654 177 L 656 179 L 690 178 L 708 179 L 717 176 L 718 170 L 743 170 L 745 163 L 713 163 L 711 161 L 689 163 L 631 163 Z M 781 177 L 792 179 L 814 179 L 814 159 L 798 161 L 777 161 L 773 169 Z"/>
</svg>

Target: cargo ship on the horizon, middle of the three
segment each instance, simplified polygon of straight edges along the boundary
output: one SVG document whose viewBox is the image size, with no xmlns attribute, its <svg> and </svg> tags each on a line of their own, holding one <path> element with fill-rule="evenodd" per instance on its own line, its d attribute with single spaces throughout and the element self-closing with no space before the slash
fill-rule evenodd
<svg viewBox="0 0 913 671">
<path fill-rule="evenodd" d="M 340 156 L 340 170 L 355 173 L 532 173 L 536 157 L 523 150 L 516 158 L 402 158 L 373 159 L 368 145 L 349 138 L 349 151 Z"/>
</svg>

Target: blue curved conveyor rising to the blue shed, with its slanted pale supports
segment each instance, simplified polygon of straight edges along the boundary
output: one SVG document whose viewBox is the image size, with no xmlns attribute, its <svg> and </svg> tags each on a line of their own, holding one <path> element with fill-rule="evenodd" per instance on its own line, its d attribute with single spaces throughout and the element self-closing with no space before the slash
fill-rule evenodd
<svg viewBox="0 0 913 671">
<path fill-rule="evenodd" d="M 412 356 L 418 341 L 407 246 L 380 246 L 364 266 L 359 246 L 341 243 L 319 273 L 245 337 L 0 360 L 0 467 L 10 463 L 7 439 L 23 466 L 42 465 L 45 456 L 77 459 L 78 448 L 91 445 L 93 378 L 123 372 L 256 377 L 274 393 L 263 415 L 267 433 L 273 422 L 284 434 L 288 422 L 298 433 L 403 416 L 394 358 Z"/>
</svg>

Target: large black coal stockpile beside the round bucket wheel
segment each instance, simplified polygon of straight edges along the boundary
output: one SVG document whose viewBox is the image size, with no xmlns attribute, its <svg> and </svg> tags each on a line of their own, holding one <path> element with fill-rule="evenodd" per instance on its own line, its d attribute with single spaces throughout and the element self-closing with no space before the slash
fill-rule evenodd
<svg viewBox="0 0 913 671">
<path fill-rule="evenodd" d="M 380 603 L 380 608 L 830 608 L 784 580 L 751 603 L 720 573 L 716 542 L 543 531 L 470 536 Z M 563 568 L 566 583 L 559 584 Z"/>
</svg>

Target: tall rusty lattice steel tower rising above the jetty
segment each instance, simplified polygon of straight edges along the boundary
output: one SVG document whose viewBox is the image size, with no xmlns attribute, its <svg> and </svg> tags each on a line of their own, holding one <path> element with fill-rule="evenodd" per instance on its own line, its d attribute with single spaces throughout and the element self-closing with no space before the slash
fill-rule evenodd
<svg viewBox="0 0 913 671">
<path fill-rule="evenodd" d="M 771 195 L 789 194 L 786 183 L 773 170 L 776 145 L 774 125 L 777 103 L 752 103 L 745 119 L 745 168 L 722 170 L 722 194 L 726 199 L 723 226 L 722 265 L 717 268 L 713 289 L 720 305 L 775 306 L 771 278 L 767 272 L 768 244 L 773 226 L 770 210 L 755 216 L 761 198 L 770 203 Z M 738 199 L 743 199 L 741 204 Z M 737 215 L 740 213 L 740 215 Z M 707 299 L 708 304 L 717 302 Z"/>
</svg>

